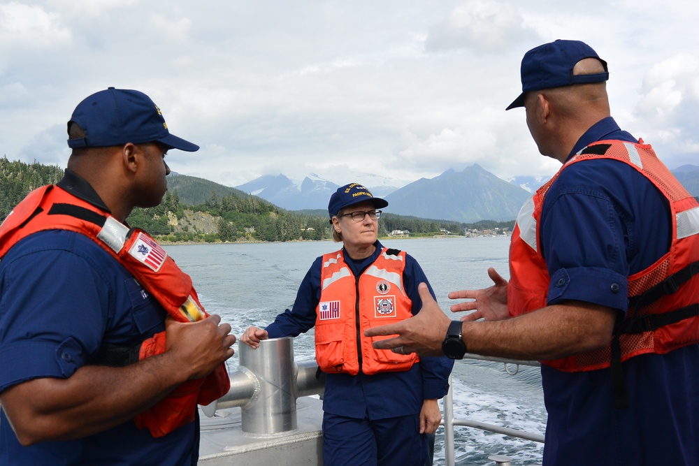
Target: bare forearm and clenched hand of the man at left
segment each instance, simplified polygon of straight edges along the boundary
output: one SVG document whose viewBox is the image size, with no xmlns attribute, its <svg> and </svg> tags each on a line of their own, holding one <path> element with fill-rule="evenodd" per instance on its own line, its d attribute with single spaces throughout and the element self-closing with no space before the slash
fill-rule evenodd
<svg viewBox="0 0 699 466">
<path fill-rule="evenodd" d="M 22 445 L 103 432 L 144 412 L 187 379 L 199 379 L 233 356 L 228 323 L 217 315 L 193 323 L 165 321 L 166 351 L 124 367 L 85 365 L 67 379 L 43 377 L 0 393 Z"/>
</svg>

